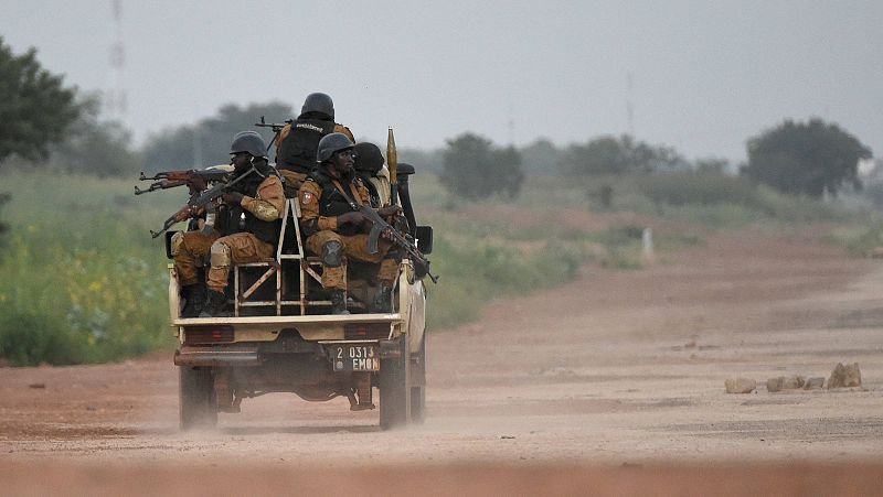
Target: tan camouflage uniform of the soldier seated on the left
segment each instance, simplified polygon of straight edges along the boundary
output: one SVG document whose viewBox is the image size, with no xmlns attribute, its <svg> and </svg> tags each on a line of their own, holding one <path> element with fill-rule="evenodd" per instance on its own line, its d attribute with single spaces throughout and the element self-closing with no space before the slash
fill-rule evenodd
<svg viewBox="0 0 883 497">
<path fill-rule="evenodd" d="M 225 209 L 226 222 L 211 235 L 185 231 L 172 237 L 174 269 L 182 287 L 198 283 L 198 261 L 209 253 L 208 287 L 222 293 L 227 285 L 231 263 L 257 262 L 274 256 L 278 219 L 285 209 L 281 181 L 269 175 L 259 183 L 244 182 L 240 193 L 244 195 L 240 205 Z M 240 229 L 238 214 L 243 212 L 246 231 L 235 233 Z"/>
</svg>

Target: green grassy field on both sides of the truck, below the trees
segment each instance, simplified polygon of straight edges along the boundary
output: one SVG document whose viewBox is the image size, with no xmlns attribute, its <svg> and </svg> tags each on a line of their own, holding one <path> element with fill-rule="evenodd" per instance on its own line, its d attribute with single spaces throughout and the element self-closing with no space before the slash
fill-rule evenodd
<svg viewBox="0 0 883 497">
<path fill-rule="evenodd" d="M 12 199 L 0 212 L 10 226 L 0 252 L 0 360 L 99 363 L 173 347 L 167 259 L 148 230 L 185 192 L 136 197 L 134 180 L 6 180 Z M 605 184 L 610 205 L 599 204 Z M 854 213 L 717 176 L 529 179 L 513 202 L 464 204 L 432 174 L 417 174 L 412 196 L 418 223 L 436 235 L 430 259 L 442 280 L 427 280 L 433 329 L 476 318 L 489 300 L 561 284 L 587 263 L 640 268 L 646 227 L 660 250 L 700 244 L 713 230 L 783 223 L 836 223 L 831 239 L 843 245 L 871 245 L 881 233 Z"/>
</svg>

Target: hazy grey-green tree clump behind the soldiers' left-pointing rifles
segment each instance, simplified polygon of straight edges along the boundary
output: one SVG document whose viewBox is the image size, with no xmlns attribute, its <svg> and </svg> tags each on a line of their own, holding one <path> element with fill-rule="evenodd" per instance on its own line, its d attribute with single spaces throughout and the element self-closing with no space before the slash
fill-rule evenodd
<svg viewBox="0 0 883 497">
<path fill-rule="evenodd" d="M 230 162 L 230 142 L 243 130 L 259 132 L 269 147 L 273 133 L 267 128 L 255 128 L 260 116 L 265 116 L 267 122 L 281 122 L 290 118 L 291 106 L 269 102 L 242 108 L 228 104 L 219 110 L 217 116 L 203 119 L 195 126 L 164 130 L 147 140 L 145 169 L 158 171 L 226 164 Z"/>
</svg>

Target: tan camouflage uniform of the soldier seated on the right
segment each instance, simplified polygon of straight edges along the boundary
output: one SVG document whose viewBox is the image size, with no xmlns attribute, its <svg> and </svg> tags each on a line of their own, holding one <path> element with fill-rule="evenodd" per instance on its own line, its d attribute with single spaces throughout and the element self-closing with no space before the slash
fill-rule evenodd
<svg viewBox="0 0 883 497">
<path fill-rule="evenodd" d="M 343 186 L 348 186 L 345 195 Z M 392 287 L 398 275 L 398 262 L 395 255 L 391 253 L 392 244 L 381 239 L 377 244 L 377 253 L 368 251 L 368 230 L 362 226 L 344 224 L 338 226 L 337 216 L 351 212 L 347 197 L 361 205 L 370 205 L 368 188 L 361 180 L 355 177 L 333 180 L 320 169 L 307 179 L 300 187 L 298 202 L 300 203 L 300 225 L 307 236 L 307 248 L 313 253 L 321 255 L 325 246 L 330 241 L 343 245 L 347 257 L 363 262 L 380 262 L 377 281 Z M 339 266 L 328 264 L 322 260 L 322 288 L 347 290 L 347 258 Z"/>
</svg>

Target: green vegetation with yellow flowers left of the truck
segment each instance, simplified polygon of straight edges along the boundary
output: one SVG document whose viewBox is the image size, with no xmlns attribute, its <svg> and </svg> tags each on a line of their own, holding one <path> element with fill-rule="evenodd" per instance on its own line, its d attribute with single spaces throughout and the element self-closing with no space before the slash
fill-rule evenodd
<svg viewBox="0 0 883 497">
<path fill-rule="evenodd" d="M 98 363 L 171 345 L 166 259 L 147 231 L 162 206 L 131 196 L 131 182 L 7 179 L 15 195 L 0 255 L 0 358 Z"/>
</svg>

